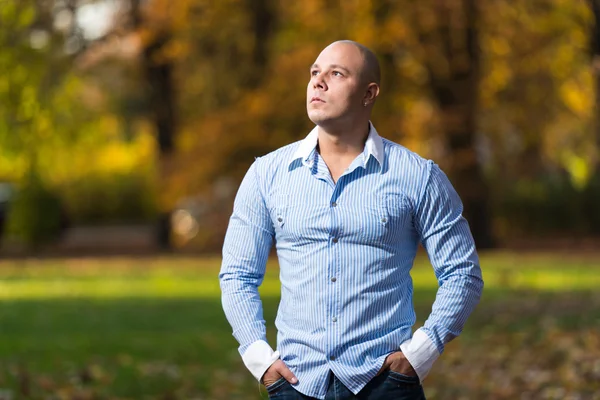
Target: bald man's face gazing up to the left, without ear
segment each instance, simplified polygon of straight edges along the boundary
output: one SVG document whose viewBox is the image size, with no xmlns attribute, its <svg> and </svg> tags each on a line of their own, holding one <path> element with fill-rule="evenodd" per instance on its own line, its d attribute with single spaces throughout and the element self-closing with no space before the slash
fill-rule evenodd
<svg viewBox="0 0 600 400">
<path fill-rule="evenodd" d="M 310 68 L 306 91 L 308 117 L 317 125 L 351 121 L 363 105 L 363 58 L 353 45 L 334 43 L 325 48 Z"/>
</svg>

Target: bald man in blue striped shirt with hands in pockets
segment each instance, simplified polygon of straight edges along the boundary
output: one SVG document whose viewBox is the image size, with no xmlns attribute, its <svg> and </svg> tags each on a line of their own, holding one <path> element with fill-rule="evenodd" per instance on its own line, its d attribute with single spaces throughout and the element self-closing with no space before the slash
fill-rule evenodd
<svg viewBox="0 0 600 400">
<path fill-rule="evenodd" d="M 381 138 L 375 55 L 335 42 L 310 68 L 302 141 L 257 158 L 225 243 L 223 308 L 250 372 L 282 399 L 424 399 L 421 382 L 458 336 L 483 281 L 462 203 L 432 161 Z M 277 351 L 258 286 L 273 242 L 280 264 Z M 439 281 L 415 323 L 417 245 Z"/>
</svg>

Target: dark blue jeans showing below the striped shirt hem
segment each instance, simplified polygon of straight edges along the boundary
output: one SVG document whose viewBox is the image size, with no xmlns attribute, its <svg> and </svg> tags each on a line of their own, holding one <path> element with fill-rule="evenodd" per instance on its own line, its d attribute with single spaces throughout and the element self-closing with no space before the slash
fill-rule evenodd
<svg viewBox="0 0 600 400">
<path fill-rule="evenodd" d="M 296 391 L 284 378 L 267 387 L 270 399 L 313 400 Z M 325 400 L 425 400 L 423 386 L 418 377 L 411 377 L 386 370 L 373 378 L 358 394 L 352 393 L 339 379 L 330 373 Z"/>
</svg>

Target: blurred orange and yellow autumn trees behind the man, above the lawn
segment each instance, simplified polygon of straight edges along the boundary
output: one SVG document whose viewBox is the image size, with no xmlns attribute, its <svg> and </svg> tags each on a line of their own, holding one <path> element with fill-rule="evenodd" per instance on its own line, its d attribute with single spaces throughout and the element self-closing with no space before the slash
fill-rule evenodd
<svg viewBox="0 0 600 400">
<path fill-rule="evenodd" d="M 92 37 L 93 4 L 9 1 L 0 176 L 35 169 L 79 223 L 201 204 L 216 249 L 254 157 L 311 128 L 309 65 L 353 39 L 382 65 L 378 130 L 448 172 L 481 247 L 599 234 L 592 3 L 121 0 Z"/>
</svg>

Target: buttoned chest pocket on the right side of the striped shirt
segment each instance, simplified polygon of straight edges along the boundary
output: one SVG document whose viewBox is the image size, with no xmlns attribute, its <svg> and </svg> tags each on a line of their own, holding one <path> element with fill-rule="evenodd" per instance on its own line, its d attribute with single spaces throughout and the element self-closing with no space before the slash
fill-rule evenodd
<svg viewBox="0 0 600 400">
<path fill-rule="evenodd" d="M 392 244 L 401 240 L 410 221 L 410 204 L 402 195 L 372 196 L 361 210 L 361 238 L 371 245 Z"/>
</svg>

